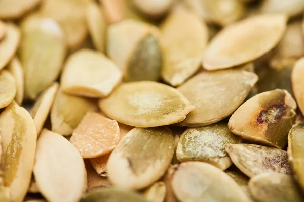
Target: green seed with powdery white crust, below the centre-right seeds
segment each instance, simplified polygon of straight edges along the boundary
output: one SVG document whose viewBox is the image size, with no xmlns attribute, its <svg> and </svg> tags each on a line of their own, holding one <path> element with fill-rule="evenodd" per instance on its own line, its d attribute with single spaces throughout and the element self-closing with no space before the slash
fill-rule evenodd
<svg viewBox="0 0 304 202">
<path fill-rule="evenodd" d="M 242 139 L 234 135 L 226 123 L 188 128 L 180 137 L 176 156 L 180 162 L 202 161 L 226 170 L 232 161 L 225 146 L 241 142 Z"/>
</svg>

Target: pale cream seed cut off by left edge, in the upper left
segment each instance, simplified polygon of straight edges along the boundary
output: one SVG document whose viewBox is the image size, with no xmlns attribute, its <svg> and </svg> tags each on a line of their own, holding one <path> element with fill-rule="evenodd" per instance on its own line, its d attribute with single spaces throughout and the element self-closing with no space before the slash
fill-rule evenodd
<svg viewBox="0 0 304 202">
<path fill-rule="evenodd" d="M 12 23 L 6 24 L 6 35 L 0 40 L 0 70 L 3 69 L 15 55 L 19 41 L 19 28 Z"/>
</svg>

